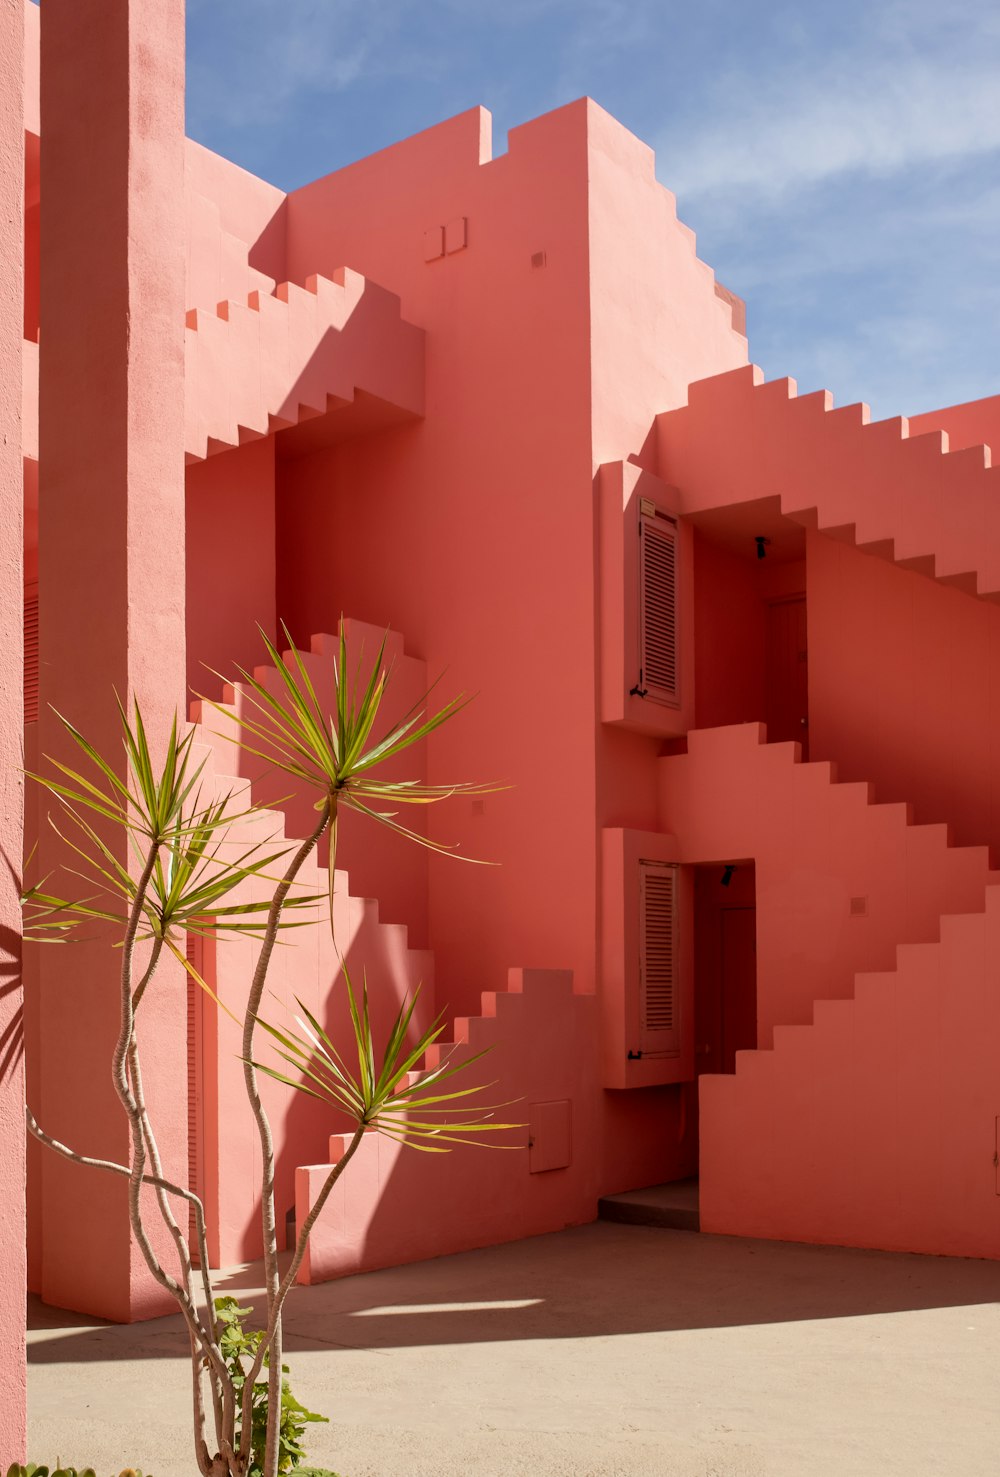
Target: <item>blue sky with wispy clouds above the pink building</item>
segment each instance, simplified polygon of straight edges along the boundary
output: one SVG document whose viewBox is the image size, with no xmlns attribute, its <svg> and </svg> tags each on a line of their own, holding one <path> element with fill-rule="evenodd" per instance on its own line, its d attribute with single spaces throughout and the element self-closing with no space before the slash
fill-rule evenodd
<svg viewBox="0 0 1000 1477">
<path fill-rule="evenodd" d="M 188 0 L 188 131 L 290 189 L 483 103 L 656 148 L 750 354 L 877 417 L 1000 391 L 991 0 Z"/>
</svg>

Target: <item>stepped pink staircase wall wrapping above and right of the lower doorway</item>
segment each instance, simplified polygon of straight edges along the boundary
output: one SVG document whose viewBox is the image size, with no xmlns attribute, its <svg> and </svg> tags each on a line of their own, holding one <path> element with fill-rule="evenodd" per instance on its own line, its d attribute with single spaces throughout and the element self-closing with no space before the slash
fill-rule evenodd
<svg viewBox="0 0 1000 1477">
<path fill-rule="evenodd" d="M 892 967 L 898 942 L 936 939 L 941 914 L 981 910 L 1000 882 L 988 848 L 953 846 L 947 826 L 838 784 L 832 764 L 768 744 L 762 724 L 694 730 L 685 755 L 660 759 L 660 827 L 679 861 L 755 860 L 761 1046 L 809 1021 L 814 998 L 846 998 L 858 970 Z"/>
</svg>

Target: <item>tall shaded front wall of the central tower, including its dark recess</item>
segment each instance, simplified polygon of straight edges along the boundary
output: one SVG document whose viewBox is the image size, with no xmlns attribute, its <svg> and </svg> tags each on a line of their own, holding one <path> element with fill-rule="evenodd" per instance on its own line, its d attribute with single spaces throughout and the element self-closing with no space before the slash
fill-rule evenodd
<svg viewBox="0 0 1000 1477">
<path fill-rule="evenodd" d="M 400 631 L 449 693 L 480 693 L 430 746 L 434 780 L 514 784 L 430 821 L 504 863 L 431 861 L 439 994 L 458 1010 L 516 959 L 594 981 L 588 108 L 516 128 L 492 162 L 484 130 L 464 114 L 290 196 L 294 276 L 347 263 L 425 328 L 427 418 L 287 464 L 278 532 L 295 631 L 349 610 Z M 427 261 L 425 232 L 462 219 L 468 245 Z M 507 737 L 526 703 L 530 753 Z"/>
</svg>

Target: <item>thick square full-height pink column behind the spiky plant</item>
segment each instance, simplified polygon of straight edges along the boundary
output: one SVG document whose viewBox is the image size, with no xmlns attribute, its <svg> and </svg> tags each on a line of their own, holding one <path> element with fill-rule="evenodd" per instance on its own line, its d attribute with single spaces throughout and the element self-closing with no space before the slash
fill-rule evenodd
<svg viewBox="0 0 1000 1477">
<path fill-rule="evenodd" d="M 44 6 L 43 753 L 66 752 L 47 705 L 118 755 L 114 690 L 139 697 L 157 743 L 185 702 L 183 22 L 183 0 Z M 58 845 L 41 832 L 46 870 Z M 185 1176 L 183 975 L 167 970 L 142 1009 L 167 1173 Z M 106 941 L 43 951 L 40 1013 L 40 1118 L 124 1159 Z M 124 1182 L 47 1155 L 41 1205 L 46 1301 L 115 1319 L 162 1310 L 130 1241 Z"/>
</svg>

